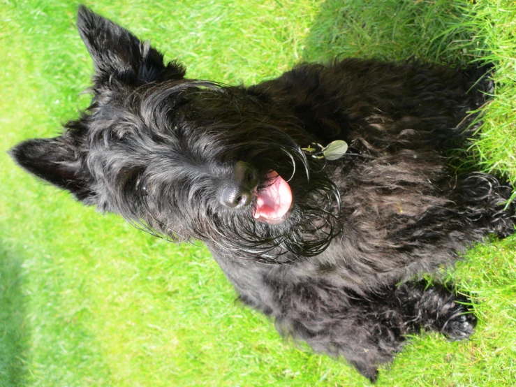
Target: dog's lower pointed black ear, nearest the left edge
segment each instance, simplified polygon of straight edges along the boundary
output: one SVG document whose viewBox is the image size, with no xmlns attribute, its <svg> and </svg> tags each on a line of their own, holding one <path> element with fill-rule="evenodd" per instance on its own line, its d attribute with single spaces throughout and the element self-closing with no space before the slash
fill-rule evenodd
<svg viewBox="0 0 516 387">
<path fill-rule="evenodd" d="M 24 141 L 10 149 L 9 154 L 25 170 L 92 204 L 93 192 L 89 187 L 93 179 L 84 167 L 73 138 L 67 133 L 55 138 Z"/>
</svg>

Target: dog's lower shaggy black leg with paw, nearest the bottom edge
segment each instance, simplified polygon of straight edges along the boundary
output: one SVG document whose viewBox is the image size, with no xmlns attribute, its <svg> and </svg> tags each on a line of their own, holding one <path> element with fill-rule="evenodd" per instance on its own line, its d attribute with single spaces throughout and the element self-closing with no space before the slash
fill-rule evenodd
<svg viewBox="0 0 516 387">
<path fill-rule="evenodd" d="M 476 321 L 457 302 L 467 298 L 443 286 L 425 289 L 422 282 L 366 295 L 318 281 L 285 283 L 269 278 L 267 285 L 259 305 L 249 303 L 274 316 L 282 335 L 302 339 L 315 351 L 343 356 L 371 381 L 376 380 L 378 366 L 401 350 L 406 334 L 431 328 L 451 339 L 465 339 Z"/>
</svg>

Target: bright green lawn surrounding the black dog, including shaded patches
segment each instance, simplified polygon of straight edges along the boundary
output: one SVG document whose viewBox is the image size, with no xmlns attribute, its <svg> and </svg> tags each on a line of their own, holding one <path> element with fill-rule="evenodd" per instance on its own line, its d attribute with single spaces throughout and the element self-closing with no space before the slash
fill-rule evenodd
<svg viewBox="0 0 516 387">
<path fill-rule="evenodd" d="M 496 65 L 469 163 L 516 182 L 514 1 L 91 1 L 152 38 L 188 76 L 251 84 L 334 55 Z M 87 106 L 91 59 L 75 1 L 0 2 L 0 386 L 364 386 L 344 362 L 281 341 L 235 302 L 201 245 L 96 213 L 5 151 Z M 516 385 L 516 238 L 452 277 L 480 302 L 468 342 L 414 337 L 378 386 Z"/>
</svg>

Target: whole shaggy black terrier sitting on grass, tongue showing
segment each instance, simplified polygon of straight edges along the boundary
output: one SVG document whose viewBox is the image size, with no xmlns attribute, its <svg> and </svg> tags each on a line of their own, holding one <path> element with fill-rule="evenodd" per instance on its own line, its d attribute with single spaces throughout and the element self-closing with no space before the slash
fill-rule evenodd
<svg viewBox="0 0 516 387">
<path fill-rule="evenodd" d="M 228 87 L 184 78 L 87 8 L 78 28 L 91 105 L 12 149 L 20 166 L 146 231 L 202 240 L 243 302 L 371 380 L 407 334 L 473 333 L 468 298 L 414 276 L 514 231 L 510 187 L 446 166 L 475 129 L 485 71 L 344 59 Z"/>
</svg>

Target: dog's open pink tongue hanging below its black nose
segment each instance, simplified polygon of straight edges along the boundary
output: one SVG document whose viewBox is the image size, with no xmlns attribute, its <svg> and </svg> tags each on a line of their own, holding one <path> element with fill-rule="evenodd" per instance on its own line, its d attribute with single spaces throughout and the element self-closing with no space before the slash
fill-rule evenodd
<svg viewBox="0 0 516 387">
<path fill-rule="evenodd" d="M 258 192 L 253 216 L 267 223 L 281 223 L 283 215 L 290 210 L 290 205 L 292 205 L 292 191 L 290 191 L 288 183 L 276 171 L 273 170 L 267 177 L 274 180 Z"/>
</svg>

